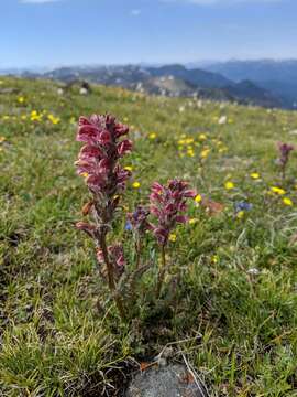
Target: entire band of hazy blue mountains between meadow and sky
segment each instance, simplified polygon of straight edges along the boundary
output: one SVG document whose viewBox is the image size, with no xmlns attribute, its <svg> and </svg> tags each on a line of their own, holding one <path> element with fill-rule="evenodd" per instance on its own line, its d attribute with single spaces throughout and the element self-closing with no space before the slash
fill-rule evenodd
<svg viewBox="0 0 297 397">
<path fill-rule="evenodd" d="M 11 74 L 65 83 L 79 79 L 174 97 L 297 108 L 297 61 L 229 61 L 205 63 L 202 68 L 179 64 L 72 66 L 51 72 L 11 71 Z"/>
</svg>

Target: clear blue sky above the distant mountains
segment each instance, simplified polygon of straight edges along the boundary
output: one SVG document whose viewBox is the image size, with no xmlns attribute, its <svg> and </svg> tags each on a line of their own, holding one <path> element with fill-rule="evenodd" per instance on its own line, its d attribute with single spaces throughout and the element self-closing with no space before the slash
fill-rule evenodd
<svg viewBox="0 0 297 397">
<path fill-rule="evenodd" d="M 297 57 L 297 0 L 0 0 L 0 68 Z"/>
</svg>

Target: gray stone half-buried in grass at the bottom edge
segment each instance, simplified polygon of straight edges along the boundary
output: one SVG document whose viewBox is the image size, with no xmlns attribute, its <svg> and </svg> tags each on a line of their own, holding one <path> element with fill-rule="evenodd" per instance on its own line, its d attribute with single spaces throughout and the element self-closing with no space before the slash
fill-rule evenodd
<svg viewBox="0 0 297 397">
<path fill-rule="evenodd" d="M 208 397 L 204 386 L 180 364 L 154 366 L 139 373 L 127 397 Z"/>
</svg>

